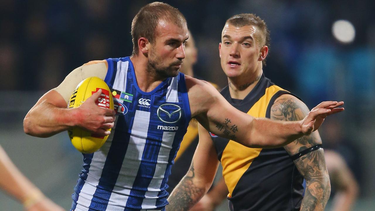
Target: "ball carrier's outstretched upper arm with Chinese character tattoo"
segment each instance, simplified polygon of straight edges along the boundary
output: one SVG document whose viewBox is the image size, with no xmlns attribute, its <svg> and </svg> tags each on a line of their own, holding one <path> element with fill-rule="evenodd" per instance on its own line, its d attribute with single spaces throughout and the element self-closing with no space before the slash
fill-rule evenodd
<svg viewBox="0 0 375 211">
<path fill-rule="evenodd" d="M 249 146 L 254 118 L 234 108 L 208 82 L 188 80 L 192 117 L 211 133 Z"/>
</svg>

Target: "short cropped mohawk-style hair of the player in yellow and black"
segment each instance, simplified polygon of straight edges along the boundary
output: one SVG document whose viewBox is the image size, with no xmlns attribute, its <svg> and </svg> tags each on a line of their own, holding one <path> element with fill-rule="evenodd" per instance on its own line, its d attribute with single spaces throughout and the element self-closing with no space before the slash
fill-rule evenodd
<svg viewBox="0 0 375 211">
<path fill-rule="evenodd" d="M 262 32 L 261 42 L 262 45 L 267 45 L 270 48 L 270 31 L 267 29 L 267 24 L 259 16 L 250 13 L 243 13 L 233 15 L 225 22 L 236 27 L 243 26 L 256 26 Z M 266 66 L 266 59 L 263 60 L 263 66 Z"/>
</svg>

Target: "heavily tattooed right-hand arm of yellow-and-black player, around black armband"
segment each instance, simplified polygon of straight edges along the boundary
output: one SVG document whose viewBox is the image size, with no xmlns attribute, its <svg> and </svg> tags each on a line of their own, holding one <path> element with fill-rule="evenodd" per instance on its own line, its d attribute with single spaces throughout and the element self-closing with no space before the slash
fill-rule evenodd
<svg viewBox="0 0 375 211">
<path fill-rule="evenodd" d="M 303 102 L 291 95 L 283 95 L 272 105 L 271 119 L 280 121 L 297 121 L 305 118 L 309 112 Z M 294 155 L 312 146 L 321 144 L 317 133 L 303 136 L 284 146 Z M 301 211 L 324 210 L 330 196 L 329 181 L 323 149 L 312 151 L 294 160 L 299 172 L 306 179 L 306 192 L 302 200 Z"/>
</svg>

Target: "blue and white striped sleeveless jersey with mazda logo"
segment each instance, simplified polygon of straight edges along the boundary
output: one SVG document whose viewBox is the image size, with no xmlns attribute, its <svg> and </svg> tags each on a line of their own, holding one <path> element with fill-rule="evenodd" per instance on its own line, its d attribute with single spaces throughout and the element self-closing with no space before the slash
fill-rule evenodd
<svg viewBox="0 0 375 211">
<path fill-rule="evenodd" d="M 115 126 L 101 149 L 83 154 L 72 210 L 162 210 L 168 204 L 166 182 L 191 118 L 185 77 L 179 73 L 143 92 L 129 57 L 107 62 Z"/>
</svg>

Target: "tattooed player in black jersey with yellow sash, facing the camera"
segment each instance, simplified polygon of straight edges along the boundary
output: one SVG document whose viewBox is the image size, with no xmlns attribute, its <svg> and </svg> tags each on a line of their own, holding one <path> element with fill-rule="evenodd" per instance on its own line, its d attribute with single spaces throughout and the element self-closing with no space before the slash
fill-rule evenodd
<svg viewBox="0 0 375 211">
<path fill-rule="evenodd" d="M 302 100 L 263 74 L 268 46 L 269 31 L 261 18 L 240 14 L 226 21 L 219 52 L 229 85 L 221 94 L 234 107 L 255 117 L 303 119 L 309 109 Z M 199 144 L 190 170 L 169 197 L 167 210 L 188 210 L 198 202 L 211 185 L 215 173 L 211 166 L 219 161 L 229 190 L 229 210 L 324 210 L 330 179 L 318 131 L 284 147 L 263 149 L 234 142 L 237 125 L 230 119 L 216 128 L 233 139 L 219 138 L 199 125 Z"/>
</svg>

